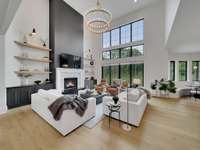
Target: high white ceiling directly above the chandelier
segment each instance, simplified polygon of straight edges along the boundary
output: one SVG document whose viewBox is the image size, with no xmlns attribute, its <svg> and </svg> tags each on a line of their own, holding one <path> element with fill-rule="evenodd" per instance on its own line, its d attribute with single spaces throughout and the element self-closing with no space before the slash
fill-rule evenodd
<svg viewBox="0 0 200 150">
<path fill-rule="evenodd" d="M 96 6 L 97 0 L 64 0 L 72 8 L 78 11 L 80 14 L 85 13 Z M 149 4 L 152 4 L 159 0 L 138 0 L 137 3 L 134 0 L 100 0 L 103 7 L 112 13 L 113 19 L 124 16 L 130 12 L 141 9 Z"/>
</svg>

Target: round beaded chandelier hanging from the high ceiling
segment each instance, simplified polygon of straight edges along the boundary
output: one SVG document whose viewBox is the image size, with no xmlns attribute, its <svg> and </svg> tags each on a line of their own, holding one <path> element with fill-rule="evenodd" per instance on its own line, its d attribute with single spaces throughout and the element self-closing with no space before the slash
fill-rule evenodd
<svg viewBox="0 0 200 150">
<path fill-rule="evenodd" d="M 103 9 L 99 0 L 97 0 L 96 8 L 86 13 L 85 20 L 91 32 L 103 33 L 110 27 L 112 15 L 109 11 Z"/>
</svg>

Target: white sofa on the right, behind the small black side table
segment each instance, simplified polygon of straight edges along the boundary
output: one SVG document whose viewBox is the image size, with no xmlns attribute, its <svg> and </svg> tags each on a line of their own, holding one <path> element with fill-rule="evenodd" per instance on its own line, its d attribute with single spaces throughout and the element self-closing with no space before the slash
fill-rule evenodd
<svg viewBox="0 0 200 150">
<path fill-rule="evenodd" d="M 118 95 L 118 97 L 121 105 L 121 121 L 127 122 L 127 93 L 122 92 Z M 109 101 L 113 101 L 111 96 L 105 96 L 103 98 L 103 111 L 107 116 L 109 115 L 109 110 L 107 107 L 107 103 Z M 129 124 L 137 127 L 140 125 L 147 103 L 148 101 L 146 94 L 142 95 L 137 102 L 129 100 Z M 118 119 L 118 114 L 113 114 L 112 117 Z"/>
</svg>

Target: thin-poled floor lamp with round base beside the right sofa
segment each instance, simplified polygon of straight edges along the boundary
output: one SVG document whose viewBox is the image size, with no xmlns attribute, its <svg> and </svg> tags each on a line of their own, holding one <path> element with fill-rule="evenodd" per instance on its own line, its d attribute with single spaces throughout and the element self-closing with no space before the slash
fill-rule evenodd
<svg viewBox="0 0 200 150">
<path fill-rule="evenodd" d="M 127 132 L 130 132 L 130 131 L 132 130 L 132 127 L 129 125 L 128 82 L 124 82 L 124 83 L 123 83 L 123 87 L 127 89 L 127 100 L 126 100 L 126 102 L 127 102 L 127 120 L 126 120 L 127 123 L 124 123 L 124 124 L 122 125 L 122 128 L 123 128 L 123 130 L 125 130 L 125 131 L 127 131 Z"/>
</svg>

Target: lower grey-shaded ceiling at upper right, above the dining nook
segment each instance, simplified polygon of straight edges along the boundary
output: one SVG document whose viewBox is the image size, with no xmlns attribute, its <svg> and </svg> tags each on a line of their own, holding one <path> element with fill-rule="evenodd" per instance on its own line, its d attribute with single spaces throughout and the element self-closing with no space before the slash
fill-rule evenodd
<svg viewBox="0 0 200 150">
<path fill-rule="evenodd" d="M 200 52 L 200 0 L 181 0 L 168 40 L 175 52 Z"/>
</svg>

